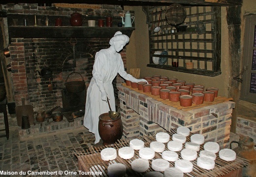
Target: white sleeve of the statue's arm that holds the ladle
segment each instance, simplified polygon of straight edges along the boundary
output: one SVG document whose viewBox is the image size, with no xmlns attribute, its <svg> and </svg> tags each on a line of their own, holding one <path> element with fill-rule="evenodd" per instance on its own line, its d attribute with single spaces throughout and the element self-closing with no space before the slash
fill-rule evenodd
<svg viewBox="0 0 256 177">
<path fill-rule="evenodd" d="M 94 61 L 93 77 L 95 79 L 96 85 L 99 88 L 99 91 L 105 90 L 101 72 L 101 69 L 104 65 L 104 57 L 105 56 L 102 52 L 97 52 Z"/>
</svg>

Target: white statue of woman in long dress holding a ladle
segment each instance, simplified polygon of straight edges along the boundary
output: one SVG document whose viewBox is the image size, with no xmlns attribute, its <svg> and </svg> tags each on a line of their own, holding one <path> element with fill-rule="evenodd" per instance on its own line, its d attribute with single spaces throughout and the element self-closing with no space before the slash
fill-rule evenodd
<svg viewBox="0 0 256 177">
<path fill-rule="evenodd" d="M 109 111 L 107 98 L 109 98 L 112 111 L 116 111 L 112 81 L 117 74 L 131 82 L 147 82 L 144 79 L 136 79 L 125 71 L 123 60 L 118 52 L 128 42 L 129 37 L 117 31 L 109 41 L 110 47 L 100 50 L 95 55 L 93 78 L 87 89 L 84 116 L 84 126 L 95 134 L 95 144 L 100 140 L 98 133 L 99 115 Z"/>
</svg>

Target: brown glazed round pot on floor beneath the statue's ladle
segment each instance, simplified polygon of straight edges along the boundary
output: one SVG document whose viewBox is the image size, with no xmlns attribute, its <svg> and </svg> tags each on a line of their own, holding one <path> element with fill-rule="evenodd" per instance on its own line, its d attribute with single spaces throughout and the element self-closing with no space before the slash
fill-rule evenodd
<svg viewBox="0 0 256 177">
<path fill-rule="evenodd" d="M 98 121 L 98 133 L 104 146 L 115 144 L 123 135 L 121 116 L 112 119 L 108 113 L 101 114 Z"/>
</svg>

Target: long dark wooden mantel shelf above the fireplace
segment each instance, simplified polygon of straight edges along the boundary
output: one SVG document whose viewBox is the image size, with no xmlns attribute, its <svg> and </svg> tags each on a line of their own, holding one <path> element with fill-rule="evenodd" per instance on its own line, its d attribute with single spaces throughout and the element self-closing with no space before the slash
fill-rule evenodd
<svg viewBox="0 0 256 177">
<path fill-rule="evenodd" d="M 55 26 L 10 26 L 10 38 L 110 38 L 116 31 L 130 37 L 135 28 L 119 27 L 55 27 Z"/>
</svg>

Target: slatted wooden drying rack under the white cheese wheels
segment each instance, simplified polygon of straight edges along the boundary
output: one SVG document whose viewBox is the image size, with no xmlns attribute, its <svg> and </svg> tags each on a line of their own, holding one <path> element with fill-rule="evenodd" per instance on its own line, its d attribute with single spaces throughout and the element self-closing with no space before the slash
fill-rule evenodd
<svg viewBox="0 0 256 177">
<path fill-rule="evenodd" d="M 172 137 L 173 134 L 177 133 L 177 129 L 170 129 L 170 132 L 167 132 L 167 133 L 169 133 L 170 137 Z M 187 142 L 190 142 L 191 135 L 187 137 Z M 149 136 L 144 135 L 144 136 L 141 136 L 139 139 L 141 139 L 145 143 L 145 147 L 150 147 L 150 143 L 156 141 L 155 137 L 156 137 L 155 134 L 149 135 Z M 165 150 L 168 150 L 167 143 L 164 143 L 164 144 L 165 144 Z M 204 144 L 200 145 L 200 150 L 204 149 L 203 145 Z M 127 175 L 125 177 L 128 177 L 130 175 L 133 175 L 135 177 L 142 177 L 146 173 L 154 171 L 151 167 L 152 160 L 149 160 L 150 168 L 144 173 L 137 173 L 131 169 L 131 162 L 135 159 L 140 158 L 138 150 L 135 150 L 134 156 L 131 159 L 127 159 L 127 160 L 117 156 L 115 160 L 103 161 L 100 157 L 100 151 L 104 148 L 115 148 L 118 151 L 119 148 L 123 148 L 123 147 L 129 147 L 129 140 L 122 139 L 122 140 L 119 140 L 113 146 L 103 146 L 99 148 L 91 147 L 86 151 L 83 150 L 83 151 L 74 152 L 76 157 L 78 158 L 79 170 L 84 172 L 90 172 L 90 170 L 94 170 L 96 168 L 96 170 L 99 170 L 100 172 L 102 172 L 102 175 L 100 175 L 100 177 L 108 177 L 107 176 L 108 165 L 113 163 L 122 163 L 127 168 Z M 185 144 L 183 144 L 183 148 L 185 148 Z M 177 153 L 179 155 L 179 159 L 182 159 L 181 152 L 178 151 Z M 240 157 L 236 157 L 234 161 L 225 161 L 219 157 L 219 153 L 217 153 L 216 155 L 217 155 L 217 158 L 215 160 L 215 168 L 213 170 L 202 169 L 196 165 L 196 160 L 193 160 L 191 161 L 193 164 L 193 171 L 191 173 L 185 173 L 184 177 L 219 177 L 219 176 L 227 175 L 243 167 L 246 167 L 249 164 L 249 160 L 246 160 Z M 199 151 L 197 151 L 197 156 L 199 156 Z M 161 153 L 159 152 L 155 153 L 154 159 L 157 159 L 157 158 L 161 158 Z M 170 167 L 174 167 L 174 162 L 169 162 L 169 163 L 170 163 Z M 89 177 L 93 177 L 93 175 L 89 175 Z"/>
</svg>

